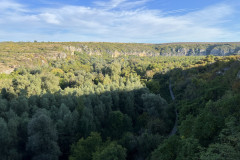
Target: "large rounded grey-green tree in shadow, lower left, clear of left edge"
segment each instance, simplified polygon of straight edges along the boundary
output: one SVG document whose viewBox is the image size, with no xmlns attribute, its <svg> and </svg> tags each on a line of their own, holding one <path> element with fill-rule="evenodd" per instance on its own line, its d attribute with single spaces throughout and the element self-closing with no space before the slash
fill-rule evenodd
<svg viewBox="0 0 240 160">
<path fill-rule="evenodd" d="M 57 133 L 46 110 L 38 110 L 28 124 L 27 150 L 33 160 L 57 160 Z"/>
</svg>

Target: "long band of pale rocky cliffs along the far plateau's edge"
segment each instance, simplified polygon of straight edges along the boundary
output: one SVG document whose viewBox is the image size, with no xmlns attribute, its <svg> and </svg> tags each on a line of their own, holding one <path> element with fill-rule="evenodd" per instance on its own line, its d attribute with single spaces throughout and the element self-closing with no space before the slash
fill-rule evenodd
<svg viewBox="0 0 240 160">
<path fill-rule="evenodd" d="M 112 57 L 136 56 L 228 56 L 240 54 L 240 43 L 182 43 L 182 44 L 118 44 L 118 43 L 79 43 L 75 46 L 64 46 L 66 52 L 86 53 L 89 55 L 109 54 Z"/>
</svg>

